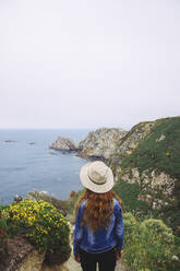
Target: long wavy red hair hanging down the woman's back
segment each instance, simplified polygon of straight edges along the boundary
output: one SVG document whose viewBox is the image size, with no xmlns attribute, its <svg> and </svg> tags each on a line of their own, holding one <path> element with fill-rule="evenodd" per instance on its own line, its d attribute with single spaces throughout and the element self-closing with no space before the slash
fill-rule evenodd
<svg viewBox="0 0 180 271">
<path fill-rule="evenodd" d="M 113 198 L 119 201 L 123 209 L 122 200 L 112 191 L 106 193 L 95 193 L 88 189 L 80 197 L 75 204 L 75 215 L 81 203 L 87 200 L 83 213 L 82 225 L 85 224 L 89 229 L 96 232 L 100 227 L 107 227 L 110 221 L 110 215 L 113 212 Z"/>
</svg>

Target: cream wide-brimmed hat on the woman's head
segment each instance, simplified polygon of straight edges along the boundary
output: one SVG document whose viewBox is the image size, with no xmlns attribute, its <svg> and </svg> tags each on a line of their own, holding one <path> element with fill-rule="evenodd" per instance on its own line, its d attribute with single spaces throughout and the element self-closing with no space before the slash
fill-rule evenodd
<svg viewBox="0 0 180 271">
<path fill-rule="evenodd" d="M 113 187 L 113 174 L 104 162 L 85 164 L 80 170 L 83 186 L 96 193 L 106 193 Z"/>
</svg>

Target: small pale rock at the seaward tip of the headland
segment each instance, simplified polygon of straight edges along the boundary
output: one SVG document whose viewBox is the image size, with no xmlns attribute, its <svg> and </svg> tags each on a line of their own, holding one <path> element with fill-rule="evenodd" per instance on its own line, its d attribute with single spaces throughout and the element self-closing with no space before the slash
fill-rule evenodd
<svg viewBox="0 0 180 271">
<path fill-rule="evenodd" d="M 55 143 L 50 146 L 50 149 L 59 150 L 59 151 L 75 151 L 77 148 L 74 142 L 69 138 L 58 137 Z"/>
</svg>

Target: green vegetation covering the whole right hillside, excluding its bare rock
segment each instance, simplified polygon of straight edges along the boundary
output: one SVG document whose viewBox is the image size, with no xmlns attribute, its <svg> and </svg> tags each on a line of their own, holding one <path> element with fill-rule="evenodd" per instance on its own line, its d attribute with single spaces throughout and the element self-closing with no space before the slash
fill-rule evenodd
<svg viewBox="0 0 180 271">
<path fill-rule="evenodd" d="M 121 174 L 130 175 L 132 168 L 137 168 L 141 179 L 140 185 L 119 179 L 115 186 L 115 191 L 123 200 L 125 208 L 124 261 L 128 270 L 180 270 L 180 260 L 172 258 L 177 256 L 180 259 L 180 117 L 156 120 L 148 136 L 132 154 L 123 160 L 119 156 L 119 161 L 118 152 L 115 155 L 117 161 L 110 166 L 120 166 Z M 146 175 L 149 174 L 149 184 L 143 182 L 141 174 L 144 170 Z M 176 179 L 172 196 L 168 196 L 168 199 L 160 189 L 152 189 L 153 170 L 157 174 L 164 172 Z M 141 200 L 146 195 L 170 203 L 153 210 L 151 201 L 147 203 Z"/>
</svg>

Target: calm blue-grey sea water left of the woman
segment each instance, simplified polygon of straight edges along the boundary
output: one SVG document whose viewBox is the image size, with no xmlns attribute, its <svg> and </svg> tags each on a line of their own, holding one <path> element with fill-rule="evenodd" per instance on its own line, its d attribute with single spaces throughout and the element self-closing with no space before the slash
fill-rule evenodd
<svg viewBox="0 0 180 271">
<path fill-rule="evenodd" d="M 72 190 L 82 189 L 79 172 L 86 161 L 49 146 L 58 136 L 77 143 L 88 131 L 0 129 L 0 204 L 32 190 L 67 199 Z"/>
</svg>

